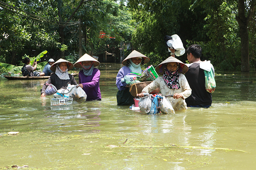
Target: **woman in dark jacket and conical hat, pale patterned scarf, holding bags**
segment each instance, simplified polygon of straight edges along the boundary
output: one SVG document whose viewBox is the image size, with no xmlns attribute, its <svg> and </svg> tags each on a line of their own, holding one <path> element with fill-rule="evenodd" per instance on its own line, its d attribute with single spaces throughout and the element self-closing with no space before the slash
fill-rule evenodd
<svg viewBox="0 0 256 170">
<path fill-rule="evenodd" d="M 71 62 L 62 58 L 59 59 L 50 67 L 50 69 L 55 73 L 50 76 L 46 83 L 54 85 L 57 90 L 67 88 L 68 84 L 77 85 L 74 76 L 67 72 L 73 67 L 74 65 Z M 45 89 L 47 88 L 46 83 L 43 84 L 41 89 L 41 97 L 45 97 Z"/>
</svg>

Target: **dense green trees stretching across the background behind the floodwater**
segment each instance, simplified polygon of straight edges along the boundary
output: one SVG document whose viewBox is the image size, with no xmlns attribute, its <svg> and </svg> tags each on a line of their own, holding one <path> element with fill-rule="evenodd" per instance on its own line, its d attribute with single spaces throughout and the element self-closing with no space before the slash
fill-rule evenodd
<svg viewBox="0 0 256 170">
<path fill-rule="evenodd" d="M 19 66 L 25 54 L 45 50 L 42 61 L 106 52 L 118 58 L 121 44 L 131 43 L 157 65 L 170 56 L 164 36 L 178 34 L 185 48 L 200 44 L 202 59 L 217 69 L 249 71 L 256 67 L 254 9 L 255 0 L 3 0 L 0 62 Z"/>
</svg>

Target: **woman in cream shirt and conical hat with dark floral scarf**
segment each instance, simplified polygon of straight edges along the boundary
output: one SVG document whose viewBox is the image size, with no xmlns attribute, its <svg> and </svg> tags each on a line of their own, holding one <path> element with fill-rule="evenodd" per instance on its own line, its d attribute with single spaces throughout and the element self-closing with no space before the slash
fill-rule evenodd
<svg viewBox="0 0 256 170">
<path fill-rule="evenodd" d="M 142 89 L 137 94 L 144 97 L 143 93 L 150 93 L 157 87 L 160 88 L 162 95 L 173 95 L 171 102 L 174 110 L 187 109 L 185 99 L 191 95 L 189 83 L 183 75 L 188 71 L 188 67 L 182 61 L 170 56 L 156 67 L 159 77 Z"/>
</svg>

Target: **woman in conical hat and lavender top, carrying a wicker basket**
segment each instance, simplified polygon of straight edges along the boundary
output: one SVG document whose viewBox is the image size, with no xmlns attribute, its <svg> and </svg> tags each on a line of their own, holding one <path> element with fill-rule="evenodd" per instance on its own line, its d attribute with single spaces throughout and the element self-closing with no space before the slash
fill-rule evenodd
<svg viewBox="0 0 256 170">
<path fill-rule="evenodd" d="M 121 79 L 124 78 L 128 73 L 142 73 L 140 65 L 144 65 L 149 62 L 149 58 L 145 55 L 133 50 L 122 62 L 123 66 L 118 71 L 116 76 L 116 86 L 118 88 L 118 93 L 116 95 L 117 105 L 131 105 L 134 103 L 133 96 L 131 95 L 128 85 L 126 82 L 122 82 Z"/>
</svg>

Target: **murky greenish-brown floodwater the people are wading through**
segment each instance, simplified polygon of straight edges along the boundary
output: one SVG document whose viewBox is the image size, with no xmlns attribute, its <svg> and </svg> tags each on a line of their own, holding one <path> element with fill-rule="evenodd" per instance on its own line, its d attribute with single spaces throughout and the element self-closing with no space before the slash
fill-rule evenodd
<svg viewBox="0 0 256 170">
<path fill-rule="evenodd" d="M 70 106 L 40 99 L 46 80 L 0 78 L 0 170 L 255 169 L 255 71 L 216 71 L 209 109 L 152 116 L 116 105 L 119 68 L 100 64 L 102 101 Z"/>
</svg>

